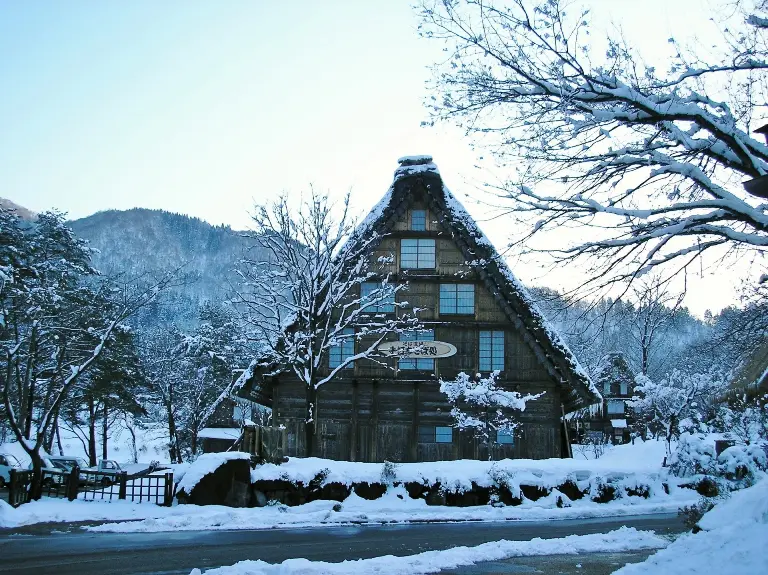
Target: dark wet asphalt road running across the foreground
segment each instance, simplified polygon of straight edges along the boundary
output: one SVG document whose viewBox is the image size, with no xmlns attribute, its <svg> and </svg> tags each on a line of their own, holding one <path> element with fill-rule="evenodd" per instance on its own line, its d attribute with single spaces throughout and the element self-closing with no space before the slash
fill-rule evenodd
<svg viewBox="0 0 768 575">
<path fill-rule="evenodd" d="M 244 559 L 279 563 L 292 557 L 343 561 L 380 555 L 412 555 L 499 539 L 528 540 L 603 533 L 622 525 L 659 534 L 684 527 L 676 515 L 567 521 L 428 523 L 265 531 L 168 533 L 53 533 L 0 535 L 0 573 L 66 575 L 187 575 L 193 568 Z M 32 532 L 34 533 L 34 532 Z"/>
</svg>

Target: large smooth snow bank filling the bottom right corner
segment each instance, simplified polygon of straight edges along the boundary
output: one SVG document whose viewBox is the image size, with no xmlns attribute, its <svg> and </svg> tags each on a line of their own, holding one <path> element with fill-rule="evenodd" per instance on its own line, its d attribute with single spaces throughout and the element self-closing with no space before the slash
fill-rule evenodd
<svg viewBox="0 0 768 575">
<path fill-rule="evenodd" d="M 704 531 L 680 537 L 643 563 L 614 575 L 768 573 L 768 479 L 731 495 L 707 513 Z"/>
</svg>

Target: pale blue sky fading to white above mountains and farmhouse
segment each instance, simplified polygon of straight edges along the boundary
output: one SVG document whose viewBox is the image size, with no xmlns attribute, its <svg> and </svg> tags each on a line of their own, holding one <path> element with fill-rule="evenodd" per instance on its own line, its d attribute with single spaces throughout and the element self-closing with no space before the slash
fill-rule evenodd
<svg viewBox="0 0 768 575">
<path fill-rule="evenodd" d="M 139 206 L 242 228 L 254 200 L 310 183 L 351 189 L 367 210 L 399 156 L 426 153 L 461 197 L 484 175 L 458 130 L 420 127 L 441 46 L 418 38 L 411 3 L 0 0 L 0 196 L 74 218 Z M 650 54 L 681 23 L 706 33 L 709 3 L 589 2 L 598 27 L 620 24 Z M 483 227 L 506 239 L 503 222 Z M 726 281 L 690 305 L 719 309 Z"/>
</svg>

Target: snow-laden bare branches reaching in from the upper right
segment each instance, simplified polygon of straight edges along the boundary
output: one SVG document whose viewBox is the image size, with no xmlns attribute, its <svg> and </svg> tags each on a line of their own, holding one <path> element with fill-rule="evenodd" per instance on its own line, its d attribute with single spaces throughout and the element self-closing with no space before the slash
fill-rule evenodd
<svg viewBox="0 0 768 575">
<path fill-rule="evenodd" d="M 746 5 L 708 36 L 714 47 L 670 38 L 661 70 L 618 35 L 593 49 L 589 12 L 561 0 L 427 1 L 422 34 L 449 56 L 428 104 L 519 166 L 496 186 L 524 224 L 514 243 L 584 260 L 583 290 L 662 265 L 670 277 L 710 251 L 754 256 L 768 204 L 742 180 L 768 174 L 768 147 L 750 135 L 766 106 L 768 20 Z M 581 230 L 570 244 L 566 228 Z"/>
</svg>

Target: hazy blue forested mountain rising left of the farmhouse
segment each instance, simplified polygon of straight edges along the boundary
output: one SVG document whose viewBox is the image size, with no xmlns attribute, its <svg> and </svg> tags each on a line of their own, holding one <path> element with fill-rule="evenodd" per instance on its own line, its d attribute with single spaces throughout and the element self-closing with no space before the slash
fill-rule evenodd
<svg viewBox="0 0 768 575">
<path fill-rule="evenodd" d="M 109 210 L 70 225 L 98 250 L 93 264 L 104 275 L 151 281 L 177 272 L 177 285 L 141 311 L 138 322 L 144 325 L 196 323 L 203 302 L 227 298 L 233 269 L 251 245 L 228 226 L 163 210 Z"/>
</svg>

